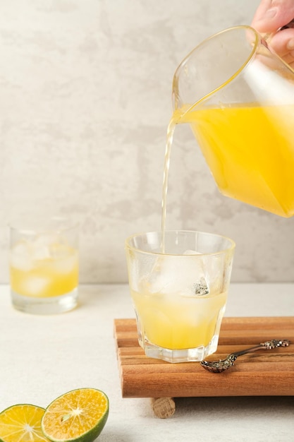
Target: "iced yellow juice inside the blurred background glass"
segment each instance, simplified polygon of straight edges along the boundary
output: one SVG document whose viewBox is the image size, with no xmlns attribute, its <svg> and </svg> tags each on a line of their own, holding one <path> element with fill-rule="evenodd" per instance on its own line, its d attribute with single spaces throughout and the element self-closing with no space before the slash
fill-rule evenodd
<svg viewBox="0 0 294 442">
<path fill-rule="evenodd" d="M 59 297 L 78 286 L 78 251 L 68 244 L 20 241 L 11 249 L 11 289 L 25 297 Z"/>
</svg>

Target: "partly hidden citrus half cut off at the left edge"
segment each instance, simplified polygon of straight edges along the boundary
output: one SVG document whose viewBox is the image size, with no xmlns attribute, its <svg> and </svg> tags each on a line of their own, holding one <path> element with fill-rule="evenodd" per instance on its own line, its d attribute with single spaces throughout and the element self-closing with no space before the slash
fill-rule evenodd
<svg viewBox="0 0 294 442">
<path fill-rule="evenodd" d="M 41 429 L 44 408 L 17 404 L 0 413 L 0 442 L 49 442 Z"/>
</svg>

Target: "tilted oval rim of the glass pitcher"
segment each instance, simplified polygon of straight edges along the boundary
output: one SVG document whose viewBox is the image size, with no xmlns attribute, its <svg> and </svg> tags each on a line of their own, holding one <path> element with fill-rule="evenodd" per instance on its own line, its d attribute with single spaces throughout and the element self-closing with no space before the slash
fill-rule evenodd
<svg viewBox="0 0 294 442">
<path fill-rule="evenodd" d="M 208 92 L 206 95 L 204 95 L 204 97 L 201 97 L 200 100 L 197 100 L 197 102 L 193 103 L 189 109 L 187 109 L 186 112 L 189 112 L 193 107 L 197 106 L 197 104 L 200 104 L 203 100 L 206 100 L 207 97 L 210 97 L 211 95 L 214 95 L 216 91 L 221 90 L 225 85 L 227 85 L 228 83 L 231 83 L 231 81 L 237 77 L 240 72 L 242 72 L 245 67 L 247 66 L 247 64 L 249 64 L 249 62 L 252 60 L 253 56 L 255 55 L 257 46 L 262 42 L 262 36 L 259 34 L 259 32 L 257 32 L 257 30 L 255 30 L 254 28 L 252 28 L 249 25 L 238 25 L 238 26 L 232 26 L 231 28 L 226 28 L 223 29 L 219 32 L 216 32 L 213 35 L 209 35 L 209 37 L 205 38 L 204 40 L 202 40 L 202 42 L 200 42 L 200 44 L 197 44 L 197 46 L 195 46 L 192 51 L 189 52 L 188 55 L 185 56 L 185 58 L 183 58 L 182 61 L 180 61 L 180 64 L 178 64 L 178 67 L 176 68 L 176 71 L 173 75 L 173 86 L 176 83 L 176 78 L 179 77 L 179 73 L 180 71 L 184 68 L 186 61 L 188 61 L 188 59 L 190 58 L 190 56 L 197 51 L 200 47 L 202 47 L 204 44 L 206 44 L 207 42 L 209 42 L 209 40 L 214 39 L 215 37 L 218 37 L 221 34 L 224 34 L 226 32 L 231 32 L 232 30 L 237 30 L 237 29 L 243 29 L 243 30 L 250 30 L 253 32 L 253 34 L 255 35 L 255 42 L 254 44 L 252 44 L 252 50 L 249 54 L 249 56 L 247 56 L 247 59 L 243 62 L 243 64 L 240 65 L 240 68 L 238 68 L 237 71 L 235 71 L 235 73 L 233 73 L 233 75 L 228 78 L 226 81 L 224 81 L 223 83 L 221 83 L 221 85 L 219 85 L 217 88 L 215 88 L 214 90 Z M 174 87 L 173 87 L 174 90 Z M 173 92 L 173 100 L 175 100 L 174 97 L 174 92 Z M 185 112 L 185 113 L 186 113 Z"/>
</svg>

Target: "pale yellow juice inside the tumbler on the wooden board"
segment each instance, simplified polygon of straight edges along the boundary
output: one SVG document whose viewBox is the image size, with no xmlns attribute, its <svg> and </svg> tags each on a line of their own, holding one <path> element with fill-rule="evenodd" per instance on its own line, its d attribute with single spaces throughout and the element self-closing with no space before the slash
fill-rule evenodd
<svg viewBox="0 0 294 442">
<path fill-rule="evenodd" d="M 131 296 L 145 339 L 172 350 L 209 345 L 219 334 L 227 299 L 225 292 L 189 297 L 131 290 Z"/>
</svg>

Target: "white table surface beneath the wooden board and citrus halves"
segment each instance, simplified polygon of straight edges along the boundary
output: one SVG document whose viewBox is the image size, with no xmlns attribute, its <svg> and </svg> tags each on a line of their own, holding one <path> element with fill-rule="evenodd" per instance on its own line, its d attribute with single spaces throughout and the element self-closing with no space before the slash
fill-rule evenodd
<svg viewBox="0 0 294 442">
<path fill-rule="evenodd" d="M 226 316 L 294 316 L 294 285 L 232 284 Z M 0 286 L 0 410 L 94 387 L 110 401 L 101 442 L 294 441 L 293 397 L 178 398 L 169 419 L 148 398 L 122 398 L 114 318 L 133 317 L 127 285 L 82 286 L 80 306 L 56 316 L 15 311 Z"/>
</svg>

